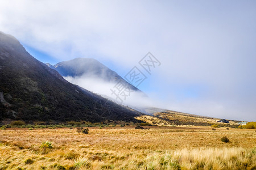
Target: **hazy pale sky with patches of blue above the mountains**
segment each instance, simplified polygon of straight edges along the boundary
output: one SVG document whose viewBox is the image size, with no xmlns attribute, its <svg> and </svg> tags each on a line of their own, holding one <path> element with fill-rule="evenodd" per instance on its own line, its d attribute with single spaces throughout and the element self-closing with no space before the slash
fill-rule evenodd
<svg viewBox="0 0 256 170">
<path fill-rule="evenodd" d="M 255 9 L 234 0 L 0 0 L 0 31 L 42 62 L 96 58 L 123 77 L 151 52 L 161 65 L 139 88 L 159 107 L 256 121 Z"/>
</svg>

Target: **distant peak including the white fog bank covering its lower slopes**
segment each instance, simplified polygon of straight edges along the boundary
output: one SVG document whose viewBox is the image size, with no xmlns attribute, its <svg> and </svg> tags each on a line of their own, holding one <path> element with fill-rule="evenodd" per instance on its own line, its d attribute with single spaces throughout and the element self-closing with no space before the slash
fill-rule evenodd
<svg viewBox="0 0 256 170">
<path fill-rule="evenodd" d="M 117 103 L 137 108 L 153 106 L 152 100 L 146 94 L 96 59 L 75 58 L 70 61 L 59 62 L 53 66 L 49 63 L 46 65 L 57 70 L 69 82 L 108 97 Z M 122 92 L 119 92 L 118 96 L 115 95 L 118 92 L 115 94 L 113 92 L 115 87 L 120 84 L 127 89 L 129 88 L 125 97 L 121 94 Z"/>
</svg>

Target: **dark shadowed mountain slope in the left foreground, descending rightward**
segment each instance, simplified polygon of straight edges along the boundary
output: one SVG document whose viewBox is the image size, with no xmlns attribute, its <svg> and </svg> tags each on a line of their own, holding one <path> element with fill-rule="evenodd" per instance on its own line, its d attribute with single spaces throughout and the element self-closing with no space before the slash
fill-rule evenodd
<svg viewBox="0 0 256 170">
<path fill-rule="evenodd" d="M 0 119 L 135 121 L 139 112 L 69 83 L 0 32 Z"/>
</svg>

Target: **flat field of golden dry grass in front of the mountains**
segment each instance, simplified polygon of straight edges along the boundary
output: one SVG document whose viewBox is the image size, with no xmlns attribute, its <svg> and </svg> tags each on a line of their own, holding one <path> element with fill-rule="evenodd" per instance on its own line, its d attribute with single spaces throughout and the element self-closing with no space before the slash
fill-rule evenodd
<svg viewBox="0 0 256 170">
<path fill-rule="evenodd" d="M 256 169 L 252 129 L 9 128 L 0 142 L 0 169 Z"/>
</svg>

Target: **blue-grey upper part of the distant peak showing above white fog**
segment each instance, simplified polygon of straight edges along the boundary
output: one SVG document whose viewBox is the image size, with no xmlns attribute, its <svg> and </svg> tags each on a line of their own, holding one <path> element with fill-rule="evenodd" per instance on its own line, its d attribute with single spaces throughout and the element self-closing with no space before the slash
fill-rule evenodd
<svg viewBox="0 0 256 170">
<path fill-rule="evenodd" d="M 83 78 L 100 78 L 105 82 L 110 83 L 121 83 L 125 84 L 133 91 L 142 92 L 137 87 L 126 82 L 121 76 L 119 76 L 115 71 L 109 69 L 101 62 L 93 58 L 75 58 L 69 61 L 59 62 L 52 66 L 46 63 L 52 69 L 57 70 L 62 76 L 72 76 L 73 78 L 83 76 Z"/>
</svg>

